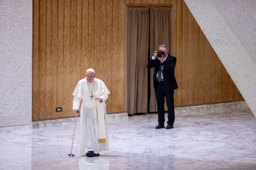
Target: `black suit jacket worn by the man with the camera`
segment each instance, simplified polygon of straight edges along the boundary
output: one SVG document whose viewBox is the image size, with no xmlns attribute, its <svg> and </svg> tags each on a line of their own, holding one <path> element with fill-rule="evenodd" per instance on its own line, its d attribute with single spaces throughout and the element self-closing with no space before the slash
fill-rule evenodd
<svg viewBox="0 0 256 170">
<path fill-rule="evenodd" d="M 157 77 L 156 74 L 159 71 L 159 67 L 160 67 L 160 60 L 159 59 L 154 59 L 152 60 L 152 58 L 149 60 L 147 68 L 155 68 L 154 69 L 154 76 L 153 76 L 153 82 L 154 82 L 154 88 L 157 87 L 158 81 L 157 81 Z M 170 56 L 170 54 L 168 53 L 168 56 L 166 58 L 166 60 L 162 63 L 163 65 L 163 82 L 165 85 L 166 90 L 175 90 L 178 88 L 175 76 L 174 76 L 174 70 L 175 70 L 175 65 L 176 65 L 176 57 L 174 56 Z M 159 75 L 161 76 L 161 75 Z"/>
</svg>

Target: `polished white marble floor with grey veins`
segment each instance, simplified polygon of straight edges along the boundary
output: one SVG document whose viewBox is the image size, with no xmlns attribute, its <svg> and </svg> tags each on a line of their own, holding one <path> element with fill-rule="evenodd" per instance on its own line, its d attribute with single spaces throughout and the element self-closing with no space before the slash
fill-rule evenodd
<svg viewBox="0 0 256 170">
<path fill-rule="evenodd" d="M 167 115 L 166 115 L 167 117 Z M 157 114 L 108 122 L 110 151 L 77 154 L 79 121 L 0 133 L 0 170 L 256 169 L 256 118 L 250 109 L 177 112 L 174 128 L 155 130 Z"/>
</svg>

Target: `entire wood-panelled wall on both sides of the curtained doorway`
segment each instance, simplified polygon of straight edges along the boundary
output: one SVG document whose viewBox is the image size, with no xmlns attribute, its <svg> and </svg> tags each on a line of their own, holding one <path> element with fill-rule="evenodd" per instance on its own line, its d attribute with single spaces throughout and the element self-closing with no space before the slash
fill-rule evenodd
<svg viewBox="0 0 256 170">
<path fill-rule="evenodd" d="M 33 0 L 33 121 L 74 116 L 72 93 L 88 68 L 110 90 L 107 113 L 125 111 L 125 6 L 132 4 L 174 6 L 176 107 L 243 100 L 183 0 Z"/>
</svg>

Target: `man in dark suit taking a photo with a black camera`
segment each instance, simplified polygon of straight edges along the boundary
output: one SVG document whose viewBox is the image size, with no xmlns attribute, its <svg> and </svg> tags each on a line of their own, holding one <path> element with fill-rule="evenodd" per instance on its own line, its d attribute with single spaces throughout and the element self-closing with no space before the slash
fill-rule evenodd
<svg viewBox="0 0 256 170">
<path fill-rule="evenodd" d="M 155 51 L 154 56 L 149 60 L 147 68 L 154 69 L 154 89 L 157 101 L 158 125 L 156 129 L 165 128 L 165 97 L 168 107 L 168 121 L 166 129 L 172 129 L 174 124 L 174 90 L 178 88 L 174 76 L 176 57 L 171 56 L 165 45 L 159 46 L 159 51 Z"/>
</svg>

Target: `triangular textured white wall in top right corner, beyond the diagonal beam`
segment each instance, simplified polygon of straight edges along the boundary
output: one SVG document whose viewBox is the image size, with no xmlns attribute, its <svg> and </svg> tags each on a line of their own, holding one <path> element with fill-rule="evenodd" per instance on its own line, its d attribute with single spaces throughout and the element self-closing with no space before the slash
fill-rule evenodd
<svg viewBox="0 0 256 170">
<path fill-rule="evenodd" d="M 256 63 L 256 0 L 212 0 Z"/>
</svg>

